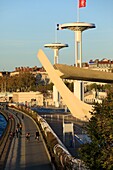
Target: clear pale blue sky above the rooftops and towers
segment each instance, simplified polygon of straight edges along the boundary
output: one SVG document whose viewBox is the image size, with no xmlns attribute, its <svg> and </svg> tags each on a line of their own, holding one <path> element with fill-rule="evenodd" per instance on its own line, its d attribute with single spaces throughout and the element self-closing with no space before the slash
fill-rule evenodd
<svg viewBox="0 0 113 170">
<path fill-rule="evenodd" d="M 86 0 L 79 9 L 80 22 L 96 28 L 82 34 L 83 62 L 90 59 L 113 60 L 113 0 Z M 15 67 L 41 66 L 37 59 L 42 49 L 53 64 L 53 50 L 44 44 L 68 44 L 59 51 L 59 63 L 75 62 L 74 32 L 56 31 L 57 24 L 77 22 L 77 0 L 0 0 L 0 71 Z"/>
</svg>

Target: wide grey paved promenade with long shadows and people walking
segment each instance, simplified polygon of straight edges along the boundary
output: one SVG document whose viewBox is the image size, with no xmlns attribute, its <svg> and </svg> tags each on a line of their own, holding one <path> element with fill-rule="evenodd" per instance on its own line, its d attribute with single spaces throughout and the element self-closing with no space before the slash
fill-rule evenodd
<svg viewBox="0 0 113 170">
<path fill-rule="evenodd" d="M 12 140 L 5 170 L 52 170 L 43 140 L 35 140 L 37 125 L 28 116 L 24 116 L 22 126 L 21 137 Z M 30 141 L 26 141 L 27 132 L 30 132 Z"/>
</svg>

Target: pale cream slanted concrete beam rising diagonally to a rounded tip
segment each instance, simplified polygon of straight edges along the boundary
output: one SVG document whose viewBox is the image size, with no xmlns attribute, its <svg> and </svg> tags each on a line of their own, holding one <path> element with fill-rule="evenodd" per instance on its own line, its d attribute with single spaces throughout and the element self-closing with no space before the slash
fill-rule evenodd
<svg viewBox="0 0 113 170">
<path fill-rule="evenodd" d="M 89 111 L 91 111 L 92 106 L 80 101 L 74 96 L 74 94 L 64 84 L 58 74 L 58 71 L 54 69 L 42 50 L 39 50 L 37 57 L 47 71 L 51 81 L 54 83 L 60 95 L 62 96 L 71 114 L 81 120 L 87 120 L 87 118 L 90 119 L 91 114 L 89 113 Z"/>
</svg>

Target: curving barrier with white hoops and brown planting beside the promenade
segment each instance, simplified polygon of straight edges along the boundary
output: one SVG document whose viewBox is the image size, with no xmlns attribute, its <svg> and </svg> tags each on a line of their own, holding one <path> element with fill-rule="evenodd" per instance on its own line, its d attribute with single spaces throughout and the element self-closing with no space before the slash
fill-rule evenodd
<svg viewBox="0 0 113 170">
<path fill-rule="evenodd" d="M 86 167 L 80 159 L 75 159 L 66 149 L 65 145 L 57 137 L 48 123 L 39 115 L 37 115 L 38 122 L 43 130 L 46 137 L 48 147 L 50 149 L 51 155 L 54 158 L 53 161 L 57 163 L 57 166 L 65 169 L 78 169 L 85 170 Z"/>
</svg>

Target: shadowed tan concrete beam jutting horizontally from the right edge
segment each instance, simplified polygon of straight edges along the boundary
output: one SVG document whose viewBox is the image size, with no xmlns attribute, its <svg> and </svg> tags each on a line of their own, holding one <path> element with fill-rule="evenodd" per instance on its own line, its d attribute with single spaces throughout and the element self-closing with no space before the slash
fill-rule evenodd
<svg viewBox="0 0 113 170">
<path fill-rule="evenodd" d="M 55 64 L 54 68 L 59 71 L 59 75 L 63 79 L 113 83 L 113 73 L 110 72 L 78 68 L 64 64 Z"/>
</svg>

